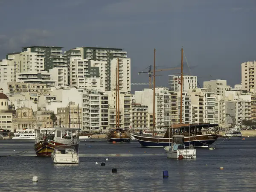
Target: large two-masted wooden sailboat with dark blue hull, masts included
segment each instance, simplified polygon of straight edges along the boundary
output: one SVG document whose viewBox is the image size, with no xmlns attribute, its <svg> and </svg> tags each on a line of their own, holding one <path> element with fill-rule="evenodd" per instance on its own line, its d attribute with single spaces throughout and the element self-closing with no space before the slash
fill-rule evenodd
<svg viewBox="0 0 256 192">
<path fill-rule="evenodd" d="M 153 135 L 132 133 L 131 135 L 140 143 L 141 147 L 167 147 L 172 142 L 173 135 L 184 135 L 184 144 L 186 147 L 193 145 L 193 147 L 208 147 L 214 143 L 218 137 L 218 130 L 213 127 L 217 127 L 218 124 L 182 124 L 182 87 L 183 87 L 183 48 L 181 49 L 181 80 L 180 80 L 180 124 L 172 125 L 172 131 L 170 126 L 164 136 L 158 136 L 154 134 L 155 128 L 155 52 L 154 49 L 154 84 L 153 84 Z M 164 127 L 164 126 L 163 126 Z M 175 128 L 175 131 L 173 131 Z M 205 133 L 203 130 L 207 129 Z"/>
</svg>

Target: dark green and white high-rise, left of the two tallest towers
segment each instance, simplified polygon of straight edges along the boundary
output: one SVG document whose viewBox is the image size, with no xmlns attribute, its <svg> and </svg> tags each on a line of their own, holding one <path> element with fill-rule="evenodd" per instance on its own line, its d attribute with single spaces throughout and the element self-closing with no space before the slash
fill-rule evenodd
<svg viewBox="0 0 256 192">
<path fill-rule="evenodd" d="M 53 67 L 67 67 L 67 61 L 62 54 L 62 47 L 31 46 L 23 47 L 23 52 L 35 53 L 39 69 L 48 71 Z M 22 71 L 21 71 L 22 72 Z"/>
</svg>

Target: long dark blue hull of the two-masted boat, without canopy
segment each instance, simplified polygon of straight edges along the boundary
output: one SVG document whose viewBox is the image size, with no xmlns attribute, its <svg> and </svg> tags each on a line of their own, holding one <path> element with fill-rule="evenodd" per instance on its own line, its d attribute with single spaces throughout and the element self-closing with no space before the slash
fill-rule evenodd
<svg viewBox="0 0 256 192">
<path fill-rule="evenodd" d="M 151 147 L 151 148 L 161 148 L 169 146 L 169 143 L 172 142 L 172 138 L 164 137 L 143 137 L 137 134 L 131 134 L 135 139 L 140 143 L 141 147 Z M 218 135 L 216 134 L 205 134 L 205 135 L 196 135 L 191 137 L 184 137 L 184 144 L 186 147 L 193 145 L 194 147 L 207 147 L 212 145 L 217 139 Z"/>
</svg>

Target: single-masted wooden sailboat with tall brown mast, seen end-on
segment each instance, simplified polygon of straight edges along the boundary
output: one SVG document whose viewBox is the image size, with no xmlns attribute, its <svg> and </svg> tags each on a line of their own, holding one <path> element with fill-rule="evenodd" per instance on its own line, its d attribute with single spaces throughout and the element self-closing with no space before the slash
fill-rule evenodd
<svg viewBox="0 0 256 192">
<path fill-rule="evenodd" d="M 106 134 L 108 143 L 130 143 L 131 135 L 128 130 L 120 127 L 119 110 L 119 58 L 117 58 L 116 67 L 116 128 L 110 128 Z"/>
</svg>

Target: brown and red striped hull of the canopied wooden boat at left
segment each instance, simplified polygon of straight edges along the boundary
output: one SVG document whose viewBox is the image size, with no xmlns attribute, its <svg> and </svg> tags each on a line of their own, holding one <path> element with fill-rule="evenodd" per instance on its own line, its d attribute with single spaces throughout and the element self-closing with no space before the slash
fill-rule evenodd
<svg viewBox="0 0 256 192">
<path fill-rule="evenodd" d="M 40 141 L 36 143 L 35 146 L 35 154 L 41 157 L 50 157 L 52 152 L 54 151 L 55 146 L 57 145 L 65 145 L 63 143 L 58 143 L 52 140 L 49 141 Z M 79 151 L 79 143 L 72 145 L 76 148 L 76 151 Z"/>
</svg>

